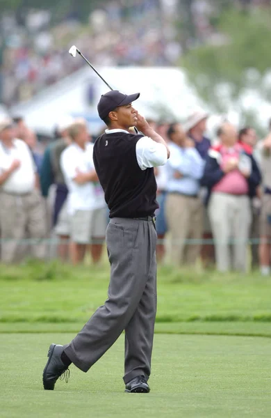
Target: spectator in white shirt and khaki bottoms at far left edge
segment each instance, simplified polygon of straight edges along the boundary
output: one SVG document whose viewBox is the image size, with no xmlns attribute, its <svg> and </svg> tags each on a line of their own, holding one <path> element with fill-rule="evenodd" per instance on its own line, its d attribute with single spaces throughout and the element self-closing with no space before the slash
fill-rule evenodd
<svg viewBox="0 0 271 418">
<path fill-rule="evenodd" d="M 13 121 L 0 121 L 0 229 L 1 258 L 4 263 L 19 261 L 22 240 L 31 245 L 35 258 L 44 258 L 45 211 L 37 184 L 36 168 L 28 146 L 15 138 Z M 27 234 L 27 235 L 26 235 Z"/>
</svg>

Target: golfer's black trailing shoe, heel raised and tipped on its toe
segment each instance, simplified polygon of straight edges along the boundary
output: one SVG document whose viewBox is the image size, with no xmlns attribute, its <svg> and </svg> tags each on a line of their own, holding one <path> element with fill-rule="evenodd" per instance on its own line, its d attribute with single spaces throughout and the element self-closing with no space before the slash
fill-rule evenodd
<svg viewBox="0 0 271 418">
<path fill-rule="evenodd" d="M 49 359 L 42 374 L 43 387 L 45 390 L 54 390 L 58 378 L 60 378 L 60 380 L 65 379 L 66 382 L 69 379 L 68 366 L 61 360 L 62 353 L 63 346 L 51 344 L 47 355 Z"/>
</svg>

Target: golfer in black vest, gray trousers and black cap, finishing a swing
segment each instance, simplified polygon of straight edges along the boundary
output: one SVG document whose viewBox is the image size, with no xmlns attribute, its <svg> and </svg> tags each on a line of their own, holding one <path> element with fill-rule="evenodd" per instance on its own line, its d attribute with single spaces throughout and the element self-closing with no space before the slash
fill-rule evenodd
<svg viewBox="0 0 271 418">
<path fill-rule="evenodd" d="M 154 167 L 165 164 L 170 151 L 134 109 L 132 102 L 139 95 L 109 91 L 99 100 L 99 117 L 108 129 L 95 142 L 93 157 L 110 210 L 108 299 L 71 343 L 51 344 L 44 389 L 53 390 L 63 373 L 62 378 L 67 377 L 71 363 L 88 371 L 125 331 L 125 391 L 149 392 L 156 317 Z M 131 133 L 131 126 L 143 134 Z"/>
</svg>

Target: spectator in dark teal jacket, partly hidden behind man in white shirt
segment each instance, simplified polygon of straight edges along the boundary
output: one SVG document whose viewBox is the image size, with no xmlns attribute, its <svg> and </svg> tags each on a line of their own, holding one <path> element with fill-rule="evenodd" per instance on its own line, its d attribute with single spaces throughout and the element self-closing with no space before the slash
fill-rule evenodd
<svg viewBox="0 0 271 418">
<path fill-rule="evenodd" d="M 58 256 L 60 256 L 63 261 L 67 261 L 69 256 L 69 220 L 66 205 L 68 189 L 60 168 L 60 155 L 70 144 L 67 129 L 73 121 L 74 119 L 72 116 L 62 116 L 59 119 L 56 125 L 58 139 L 50 144 L 45 150 L 40 170 L 42 196 L 47 198 L 51 185 L 56 185 L 55 196 L 53 199 L 54 208 L 52 224 L 54 226 L 54 233 L 56 233 L 60 239 Z"/>
</svg>

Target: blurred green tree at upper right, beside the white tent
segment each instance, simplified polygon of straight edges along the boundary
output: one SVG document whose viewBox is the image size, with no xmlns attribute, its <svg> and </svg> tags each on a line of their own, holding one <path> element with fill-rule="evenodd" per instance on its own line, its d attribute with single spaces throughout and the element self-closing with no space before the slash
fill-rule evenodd
<svg viewBox="0 0 271 418">
<path fill-rule="evenodd" d="M 213 110 L 239 109 L 243 122 L 255 112 L 242 102 L 246 91 L 271 100 L 271 9 L 230 9 L 220 15 L 220 42 L 191 49 L 181 61 L 190 82 Z"/>
</svg>

